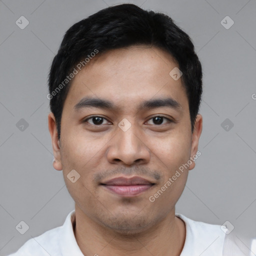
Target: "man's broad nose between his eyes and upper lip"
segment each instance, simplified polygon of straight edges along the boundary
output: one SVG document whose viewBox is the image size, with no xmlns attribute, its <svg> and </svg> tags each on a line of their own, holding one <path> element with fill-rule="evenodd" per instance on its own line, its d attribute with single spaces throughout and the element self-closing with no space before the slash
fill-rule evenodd
<svg viewBox="0 0 256 256">
<path fill-rule="evenodd" d="M 123 131 L 117 127 L 115 136 L 107 147 L 107 160 L 123 165 L 145 164 L 150 159 L 150 150 L 135 125 Z"/>
</svg>

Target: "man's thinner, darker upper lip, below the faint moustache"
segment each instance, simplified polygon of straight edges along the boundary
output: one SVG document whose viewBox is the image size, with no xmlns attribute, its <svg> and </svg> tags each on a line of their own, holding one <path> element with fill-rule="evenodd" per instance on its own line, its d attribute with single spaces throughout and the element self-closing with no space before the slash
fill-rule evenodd
<svg viewBox="0 0 256 256">
<path fill-rule="evenodd" d="M 121 177 L 115 177 L 115 178 L 109 179 L 107 181 L 102 182 L 101 184 L 127 186 L 127 185 L 145 185 L 145 184 L 154 184 L 154 183 L 139 176 L 133 176 L 130 178 L 121 176 Z"/>
</svg>

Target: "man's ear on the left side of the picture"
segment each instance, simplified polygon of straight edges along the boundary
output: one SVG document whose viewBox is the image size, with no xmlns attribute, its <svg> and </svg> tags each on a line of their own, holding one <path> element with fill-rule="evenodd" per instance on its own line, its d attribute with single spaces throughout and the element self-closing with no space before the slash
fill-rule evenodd
<svg viewBox="0 0 256 256">
<path fill-rule="evenodd" d="M 56 170 L 62 170 L 62 164 L 60 160 L 60 142 L 58 139 L 55 117 L 52 112 L 48 114 L 48 128 L 51 136 L 51 144 L 54 155 L 54 161 L 52 165 Z"/>
</svg>

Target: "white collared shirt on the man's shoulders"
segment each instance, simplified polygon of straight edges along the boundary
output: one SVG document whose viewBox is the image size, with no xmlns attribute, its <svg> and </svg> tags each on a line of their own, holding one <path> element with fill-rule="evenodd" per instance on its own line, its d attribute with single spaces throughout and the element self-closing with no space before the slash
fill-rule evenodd
<svg viewBox="0 0 256 256">
<path fill-rule="evenodd" d="M 181 256 L 223 255 L 225 233 L 220 225 L 194 221 L 178 213 L 175 215 L 185 222 L 186 228 Z M 62 226 L 29 239 L 9 256 L 84 256 L 74 237 L 74 221 L 75 210 L 72 210 Z"/>
</svg>

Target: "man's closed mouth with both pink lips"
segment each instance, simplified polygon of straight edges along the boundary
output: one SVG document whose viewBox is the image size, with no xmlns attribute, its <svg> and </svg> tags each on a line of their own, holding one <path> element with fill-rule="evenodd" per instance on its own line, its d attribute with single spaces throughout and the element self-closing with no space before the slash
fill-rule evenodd
<svg viewBox="0 0 256 256">
<path fill-rule="evenodd" d="M 116 177 L 100 183 L 108 191 L 124 197 L 133 197 L 145 192 L 155 183 L 142 177 L 133 176 L 131 178 Z"/>
</svg>

